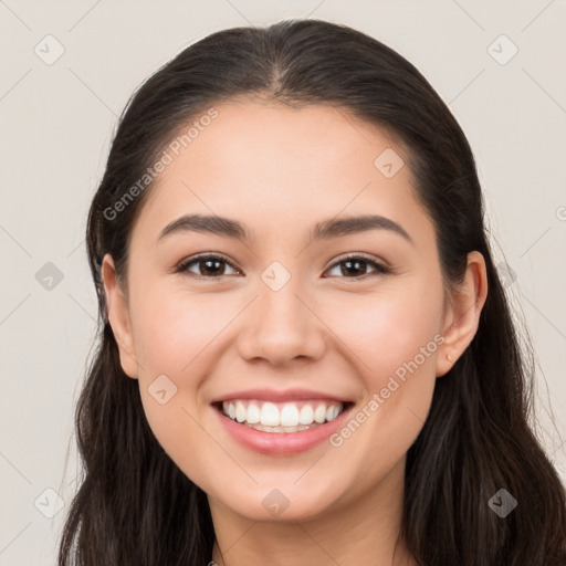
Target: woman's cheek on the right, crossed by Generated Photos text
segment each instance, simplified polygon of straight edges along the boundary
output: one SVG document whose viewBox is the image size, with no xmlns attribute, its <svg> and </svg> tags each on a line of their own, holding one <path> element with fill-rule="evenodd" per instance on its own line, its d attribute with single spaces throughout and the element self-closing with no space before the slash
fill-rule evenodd
<svg viewBox="0 0 566 566">
<path fill-rule="evenodd" d="M 355 360 L 365 395 L 352 417 L 356 422 L 338 432 L 335 446 L 342 444 L 347 454 L 359 490 L 386 474 L 424 424 L 442 343 L 440 310 L 441 292 L 428 287 L 423 293 L 416 284 L 403 293 L 366 296 L 359 305 L 352 301 L 342 318 L 336 334 L 356 354 L 348 359 Z M 358 476 L 359 470 L 368 476 Z"/>
</svg>

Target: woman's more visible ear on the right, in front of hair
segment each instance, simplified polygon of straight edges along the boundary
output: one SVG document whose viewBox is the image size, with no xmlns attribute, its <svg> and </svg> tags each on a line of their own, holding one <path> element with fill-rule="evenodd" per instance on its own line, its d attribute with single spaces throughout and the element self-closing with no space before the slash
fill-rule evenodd
<svg viewBox="0 0 566 566">
<path fill-rule="evenodd" d="M 444 343 L 437 358 L 437 377 L 446 375 L 471 344 L 486 297 L 485 260 L 480 252 L 473 251 L 468 254 L 463 283 L 449 297 L 450 304 L 443 318 Z"/>
</svg>

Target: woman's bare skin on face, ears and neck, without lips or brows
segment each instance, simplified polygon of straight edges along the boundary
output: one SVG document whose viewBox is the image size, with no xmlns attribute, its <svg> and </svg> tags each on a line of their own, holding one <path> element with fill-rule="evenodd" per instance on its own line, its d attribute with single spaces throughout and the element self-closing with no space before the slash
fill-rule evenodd
<svg viewBox="0 0 566 566">
<path fill-rule="evenodd" d="M 159 443 L 208 494 L 217 564 L 417 564 L 402 541 L 395 551 L 406 453 L 436 379 L 478 329 L 483 256 L 469 254 L 458 293 L 443 289 L 433 224 L 409 167 L 387 178 L 374 166 L 386 148 L 407 157 L 385 132 L 326 105 L 214 107 L 219 117 L 159 175 L 134 226 L 127 292 L 104 258 L 122 367 L 139 381 Z M 400 223 L 415 244 L 387 230 L 310 243 L 316 222 L 368 211 Z M 157 243 L 167 223 L 197 212 L 239 220 L 255 238 L 186 232 Z M 200 280 L 210 273 L 202 263 L 174 272 L 202 252 L 233 266 Z M 340 270 L 348 252 L 394 271 Z M 261 279 L 275 260 L 291 274 L 277 292 Z M 210 406 L 234 390 L 303 387 L 350 399 L 356 412 L 434 335 L 443 343 L 340 447 L 261 454 L 238 444 Z M 165 405 L 148 392 L 163 374 L 177 386 Z M 289 500 L 276 517 L 262 505 L 273 489 Z"/>
</svg>

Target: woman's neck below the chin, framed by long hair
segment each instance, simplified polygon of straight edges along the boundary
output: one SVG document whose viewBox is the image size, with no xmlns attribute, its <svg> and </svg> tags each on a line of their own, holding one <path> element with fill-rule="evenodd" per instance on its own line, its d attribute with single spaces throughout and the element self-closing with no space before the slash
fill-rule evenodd
<svg viewBox="0 0 566 566">
<path fill-rule="evenodd" d="M 405 459 L 370 493 L 311 520 L 258 522 L 209 496 L 218 566 L 413 566 L 398 535 L 402 516 Z"/>
</svg>

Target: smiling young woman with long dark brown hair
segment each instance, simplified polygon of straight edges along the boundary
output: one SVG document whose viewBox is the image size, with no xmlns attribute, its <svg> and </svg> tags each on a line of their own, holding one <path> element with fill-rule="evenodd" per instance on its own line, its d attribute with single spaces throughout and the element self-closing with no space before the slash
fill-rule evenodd
<svg viewBox="0 0 566 566">
<path fill-rule="evenodd" d="M 344 25 L 214 33 L 92 202 L 101 336 L 60 566 L 564 565 L 470 146 Z"/>
</svg>

